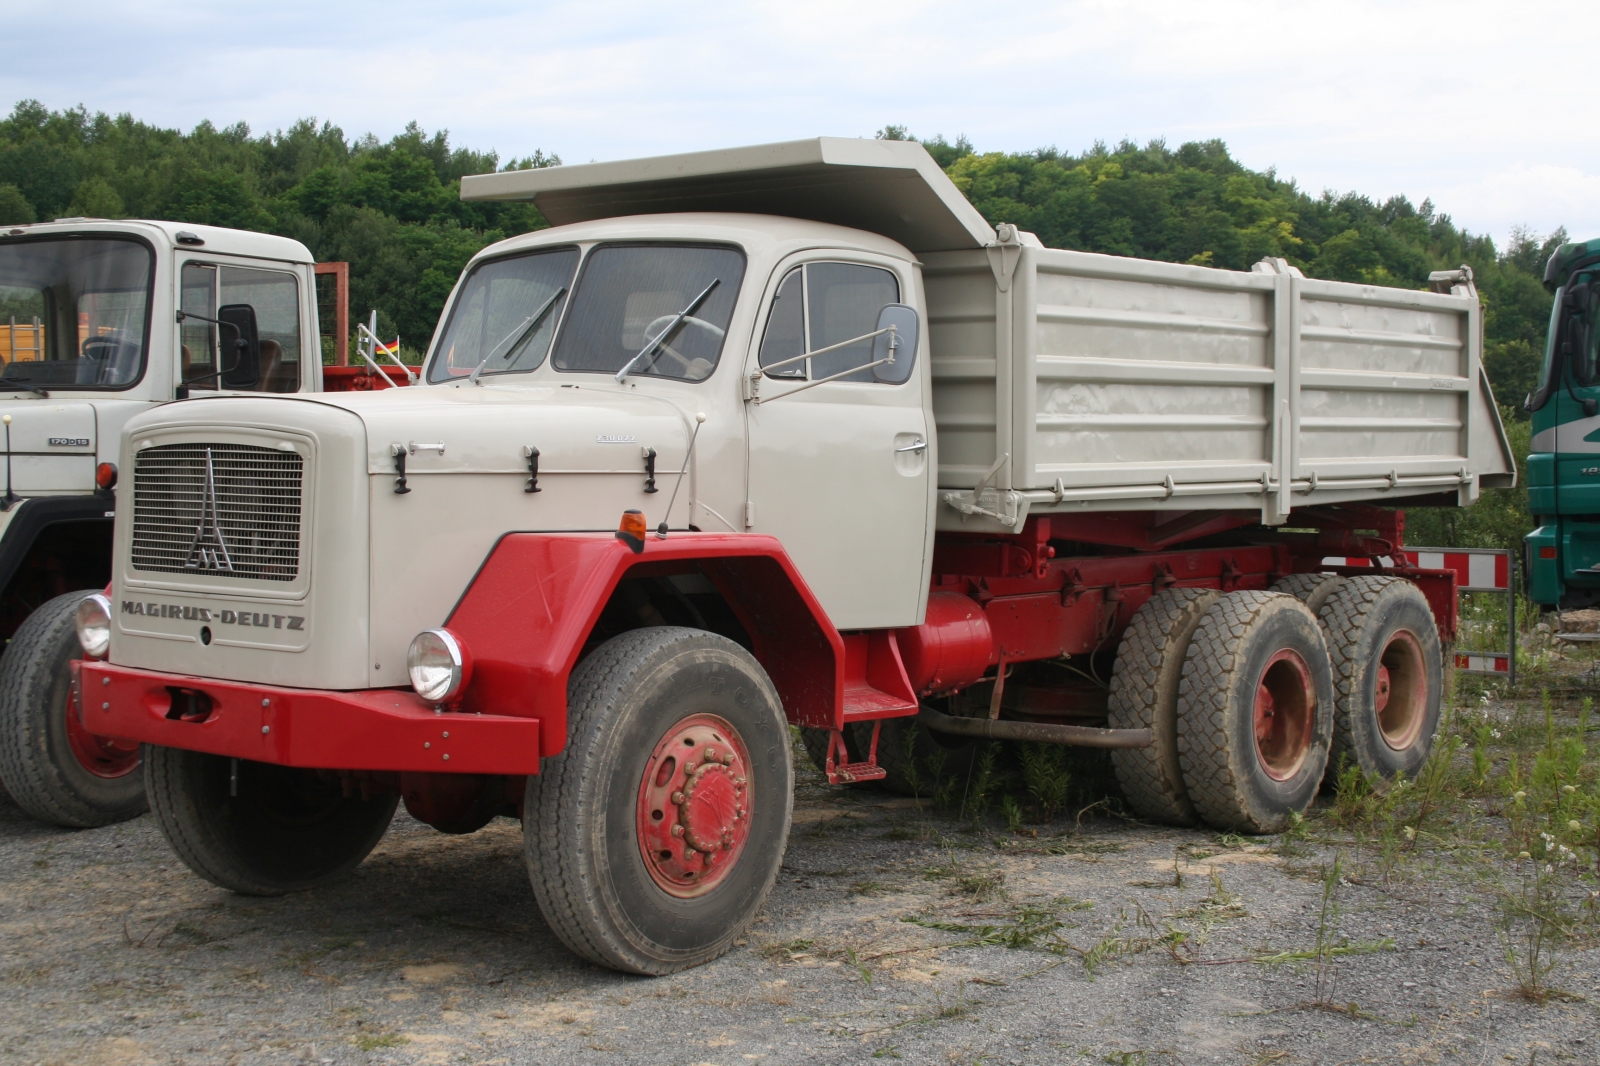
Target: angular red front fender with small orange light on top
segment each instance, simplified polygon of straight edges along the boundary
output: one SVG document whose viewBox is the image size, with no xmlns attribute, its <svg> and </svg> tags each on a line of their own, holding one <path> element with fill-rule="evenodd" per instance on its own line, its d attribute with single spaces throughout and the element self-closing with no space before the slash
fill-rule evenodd
<svg viewBox="0 0 1600 1066">
<path fill-rule="evenodd" d="M 472 651 L 462 711 L 538 717 L 544 755 L 566 746 L 566 682 L 611 592 L 630 573 L 699 568 L 750 635 L 790 722 L 834 728 L 845 643 L 782 546 L 755 533 L 509 533 L 445 623 Z"/>
</svg>

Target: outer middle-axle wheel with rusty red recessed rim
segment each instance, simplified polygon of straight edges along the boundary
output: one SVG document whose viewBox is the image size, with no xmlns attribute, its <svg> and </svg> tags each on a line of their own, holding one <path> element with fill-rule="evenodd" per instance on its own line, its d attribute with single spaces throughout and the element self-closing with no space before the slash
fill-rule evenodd
<svg viewBox="0 0 1600 1066">
<path fill-rule="evenodd" d="M 1258 688 L 1280 707 L 1261 744 Z M 1331 736 L 1333 671 L 1306 605 L 1280 592 L 1218 599 L 1189 642 L 1178 695 L 1178 757 L 1195 813 L 1216 829 L 1282 831 L 1315 799 Z"/>
</svg>

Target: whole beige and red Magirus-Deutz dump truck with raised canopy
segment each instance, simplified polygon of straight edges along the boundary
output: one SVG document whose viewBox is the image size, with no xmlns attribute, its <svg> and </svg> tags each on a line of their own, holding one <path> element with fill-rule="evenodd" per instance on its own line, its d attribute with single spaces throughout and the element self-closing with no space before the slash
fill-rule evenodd
<svg viewBox="0 0 1600 1066">
<path fill-rule="evenodd" d="M 75 691 L 202 877 L 323 884 L 398 802 L 517 816 L 555 933 L 664 973 L 766 898 L 790 725 L 904 789 L 986 738 L 1109 747 L 1138 815 L 1246 832 L 1330 755 L 1427 757 L 1454 573 L 1323 559 L 1510 483 L 1469 272 L 1050 250 L 910 142 L 462 195 L 554 227 L 474 258 L 422 387 L 123 434 Z"/>
</svg>

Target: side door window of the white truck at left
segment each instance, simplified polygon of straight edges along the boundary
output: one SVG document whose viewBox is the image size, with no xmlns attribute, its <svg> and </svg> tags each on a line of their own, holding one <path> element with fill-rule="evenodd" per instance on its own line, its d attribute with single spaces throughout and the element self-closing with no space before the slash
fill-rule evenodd
<svg viewBox="0 0 1600 1066">
<path fill-rule="evenodd" d="M 299 391 L 299 282 L 293 274 L 186 262 L 181 299 L 186 312 L 227 323 L 184 322 L 179 360 L 186 383 L 198 389 L 221 381 L 224 389 L 246 392 Z M 240 339 L 250 346 L 240 349 Z"/>
</svg>

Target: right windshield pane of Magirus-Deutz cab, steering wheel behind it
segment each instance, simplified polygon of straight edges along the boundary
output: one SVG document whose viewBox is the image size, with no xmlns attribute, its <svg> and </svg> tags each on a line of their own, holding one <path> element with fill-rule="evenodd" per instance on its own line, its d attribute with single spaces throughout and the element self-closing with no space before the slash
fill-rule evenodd
<svg viewBox="0 0 1600 1066">
<path fill-rule="evenodd" d="M 629 375 L 704 381 L 742 280 L 744 253 L 728 245 L 600 245 L 584 261 L 555 338 L 555 368 L 614 375 L 659 341 Z M 682 315 L 712 282 L 699 307 Z"/>
</svg>

